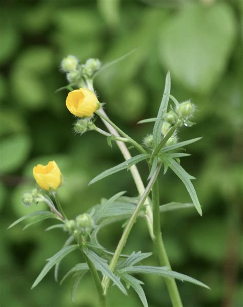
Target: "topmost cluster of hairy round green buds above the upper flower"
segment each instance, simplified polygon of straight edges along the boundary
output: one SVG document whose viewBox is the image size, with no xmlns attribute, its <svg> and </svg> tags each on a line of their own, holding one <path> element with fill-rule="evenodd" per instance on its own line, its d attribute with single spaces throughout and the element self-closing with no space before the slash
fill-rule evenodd
<svg viewBox="0 0 243 307">
<path fill-rule="evenodd" d="M 95 72 L 100 69 L 101 63 L 97 58 L 89 58 L 85 64 L 80 64 L 78 58 L 74 55 L 68 55 L 62 60 L 60 66 L 66 72 L 69 83 L 82 87 L 82 78 L 92 78 Z"/>
</svg>

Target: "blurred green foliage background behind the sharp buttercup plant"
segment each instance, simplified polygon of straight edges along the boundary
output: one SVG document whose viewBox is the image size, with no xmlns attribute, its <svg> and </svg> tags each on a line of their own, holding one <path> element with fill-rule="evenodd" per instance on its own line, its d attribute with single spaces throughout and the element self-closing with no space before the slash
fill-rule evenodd
<svg viewBox="0 0 243 307">
<path fill-rule="evenodd" d="M 195 210 L 165 213 L 163 233 L 172 267 L 195 277 L 211 291 L 178 282 L 187 307 L 240 307 L 243 302 L 242 217 L 242 49 L 240 0 L 231 2 L 146 1 L 16 1 L 2 4 L 0 27 L 0 304 L 3 306 L 71 306 L 72 280 L 62 287 L 51 274 L 33 291 L 30 286 L 45 259 L 63 244 L 65 234 L 44 233 L 49 222 L 22 232 L 9 224 L 35 208 L 25 208 L 22 193 L 34 186 L 32 167 L 55 159 L 65 177 L 60 199 L 69 217 L 82 213 L 101 197 L 127 190 L 136 195 L 129 172 L 87 187 L 90 179 L 123 160 L 114 145 L 94 132 L 72 133 L 73 117 L 65 107 L 66 85 L 60 60 L 74 54 L 82 61 L 98 57 L 107 63 L 139 47 L 123 62 L 104 70 L 95 81 L 108 114 L 138 140 L 152 125 L 167 70 L 172 94 L 192 98 L 196 126 L 183 129 L 180 139 L 204 136 L 193 144 L 183 164 L 195 181 L 204 215 Z M 146 165 L 139 166 L 146 182 Z M 160 178 L 161 203 L 188 201 L 185 188 L 168 172 Z M 39 208 L 40 209 L 40 208 Z M 114 249 L 121 224 L 104 229 L 103 244 Z M 139 238 L 139 239 L 138 239 Z M 126 245 L 150 251 L 144 221 L 138 221 Z M 241 254 L 241 257 L 240 257 Z M 60 268 L 64 274 L 79 261 L 74 253 Z M 151 258 L 152 264 L 157 264 Z M 163 280 L 145 276 L 149 305 L 170 306 Z M 111 288 L 109 306 L 140 306 Z M 94 306 L 94 284 L 86 276 L 77 304 Z"/>
</svg>

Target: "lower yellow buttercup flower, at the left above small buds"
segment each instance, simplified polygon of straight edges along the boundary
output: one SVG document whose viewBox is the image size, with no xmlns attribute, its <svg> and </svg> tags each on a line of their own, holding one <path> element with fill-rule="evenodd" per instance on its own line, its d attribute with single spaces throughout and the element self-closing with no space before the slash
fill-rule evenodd
<svg viewBox="0 0 243 307">
<path fill-rule="evenodd" d="M 55 161 L 48 162 L 48 165 L 38 164 L 33 168 L 33 176 L 37 185 L 49 191 L 56 190 L 62 183 L 62 173 Z"/>
</svg>

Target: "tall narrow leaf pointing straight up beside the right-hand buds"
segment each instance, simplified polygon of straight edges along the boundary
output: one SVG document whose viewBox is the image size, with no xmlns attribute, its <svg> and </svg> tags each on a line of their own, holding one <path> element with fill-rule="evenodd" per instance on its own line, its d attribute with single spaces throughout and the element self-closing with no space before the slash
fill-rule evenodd
<svg viewBox="0 0 243 307">
<path fill-rule="evenodd" d="M 165 95 L 167 94 L 167 95 Z M 166 75 L 166 83 L 165 83 L 165 90 L 161 100 L 161 104 L 158 110 L 157 119 L 154 124 L 153 129 L 153 145 L 156 148 L 161 140 L 161 128 L 163 125 L 163 121 L 160 120 L 163 117 L 164 112 L 167 112 L 168 102 L 169 102 L 169 95 L 170 95 L 170 72 L 168 71 Z"/>
</svg>

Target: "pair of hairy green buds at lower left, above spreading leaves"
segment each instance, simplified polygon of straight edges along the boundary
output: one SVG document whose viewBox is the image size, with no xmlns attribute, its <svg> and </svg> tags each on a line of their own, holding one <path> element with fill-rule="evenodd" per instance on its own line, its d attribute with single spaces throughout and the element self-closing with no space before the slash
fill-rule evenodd
<svg viewBox="0 0 243 307">
<path fill-rule="evenodd" d="M 88 213 L 80 214 L 75 220 L 71 219 L 65 223 L 65 230 L 74 236 L 89 234 L 94 225 L 92 217 Z"/>
</svg>

